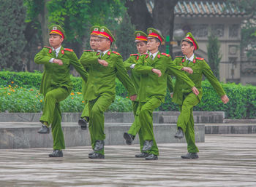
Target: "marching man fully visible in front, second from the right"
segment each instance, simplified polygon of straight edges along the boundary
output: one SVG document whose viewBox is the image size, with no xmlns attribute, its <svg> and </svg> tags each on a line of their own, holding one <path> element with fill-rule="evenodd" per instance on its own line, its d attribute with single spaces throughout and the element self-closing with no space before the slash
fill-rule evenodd
<svg viewBox="0 0 256 187">
<path fill-rule="evenodd" d="M 175 65 L 170 55 L 160 53 L 159 45 L 164 41 L 163 36 L 154 28 L 148 28 L 147 48 L 149 54 L 143 55 L 135 65 L 135 71 L 140 73 L 140 89 L 138 92 L 139 108 L 137 111 L 140 130 L 143 136 L 141 156 L 146 160 L 158 159 L 159 151 L 154 140 L 153 111 L 165 101 L 167 74 L 174 74 L 184 80 L 190 89 L 198 94 L 195 84 L 183 72 L 188 68 Z M 182 71 L 183 70 L 183 71 Z"/>
</svg>

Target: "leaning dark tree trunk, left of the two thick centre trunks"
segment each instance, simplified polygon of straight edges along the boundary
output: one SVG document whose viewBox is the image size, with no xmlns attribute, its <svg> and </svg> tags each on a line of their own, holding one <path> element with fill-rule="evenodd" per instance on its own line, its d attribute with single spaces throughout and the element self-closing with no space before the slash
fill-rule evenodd
<svg viewBox="0 0 256 187">
<path fill-rule="evenodd" d="M 125 7 L 127 7 L 127 13 L 136 30 L 146 32 L 147 28 L 152 27 L 153 20 L 148 12 L 146 0 L 127 0 Z"/>
</svg>

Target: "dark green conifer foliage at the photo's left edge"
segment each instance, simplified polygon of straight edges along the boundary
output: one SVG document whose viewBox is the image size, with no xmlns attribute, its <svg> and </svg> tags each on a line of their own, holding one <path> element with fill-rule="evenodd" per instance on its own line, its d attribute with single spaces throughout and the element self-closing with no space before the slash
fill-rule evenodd
<svg viewBox="0 0 256 187">
<path fill-rule="evenodd" d="M 0 68 L 20 71 L 26 60 L 23 54 L 26 8 L 22 0 L 1 0 L 0 4 Z"/>
</svg>

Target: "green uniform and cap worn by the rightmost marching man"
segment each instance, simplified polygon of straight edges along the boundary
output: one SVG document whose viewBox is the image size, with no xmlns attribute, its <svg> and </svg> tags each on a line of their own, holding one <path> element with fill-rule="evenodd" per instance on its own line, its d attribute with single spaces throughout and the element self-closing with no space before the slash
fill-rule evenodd
<svg viewBox="0 0 256 187">
<path fill-rule="evenodd" d="M 198 49 L 197 42 L 193 38 L 192 34 L 188 33 L 187 36 L 189 37 L 189 40 L 192 39 L 194 41 L 195 47 Z M 187 87 L 187 84 L 184 84 L 184 81 L 177 77 L 173 92 L 173 102 L 180 106 L 179 109 L 181 111 L 180 116 L 178 116 L 177 127 L 181 127 L 185 134 L 188 152 L 197 153 L 198 148 L 195 146 L 193 107 L 200 103 L 203 95 L 201 85 L 203 75 L 206 76 L 208 81 L 210 81 L 219 96 L 225 95 L 225 91 L 222 89 L 219 81 L 203 58 L 196 57 L 194 55 L 192 62 L 188 62 L 186 57 L 176 57 L 173 62 L 179 67 L 192 68 L 192 74 L 186 73 L 187 76 L 189 76 L 189 78 L 195 83 L 195 87 L 199 91 L 199 94 L 195 95 L 191 92 L 191 89 Z"/>
</svg>

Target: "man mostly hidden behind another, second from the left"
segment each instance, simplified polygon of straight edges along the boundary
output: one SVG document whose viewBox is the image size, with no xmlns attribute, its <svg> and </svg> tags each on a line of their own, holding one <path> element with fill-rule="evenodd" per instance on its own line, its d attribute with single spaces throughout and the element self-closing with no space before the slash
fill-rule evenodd
<svg viewBox="0 0 256 187">
<path fill-rule="evenodd" d="M 99 38 L 97 37 L 99 35 L 99 26 L 94 25 L 91 27 L 91 37 L 90 37 L 90 46 L 91 50 L 84 50 L 83 55 L 81 58 L 83 58 L 86 55 L 89 56 L 94 56 L 97 55 L 98 50 L 98 40 Z M 82 93 L 83 93 L 83 99 L 86 100 L 85 92 L 86 92 L 86 82 L 82 82 Z M 87 124 L 89 123 L 89 104 L 88 101 L 86 102 L 86 106 L 83 108 L 83 112 L 81 114 L 80 119 L 78 120 L 78 124 L 80 125 L 82 130 L 86 130 Z"/>
</svg>

